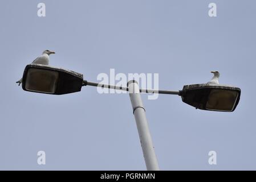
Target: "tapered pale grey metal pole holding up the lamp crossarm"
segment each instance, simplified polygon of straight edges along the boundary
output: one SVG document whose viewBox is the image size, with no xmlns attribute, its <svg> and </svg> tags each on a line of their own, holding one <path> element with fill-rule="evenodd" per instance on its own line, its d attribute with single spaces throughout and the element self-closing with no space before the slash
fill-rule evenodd
<svg viewBox="0 0 256 182">
<path fill-rule="evenodd" d="M 143 102 L 140 97 L 140 88 L 135 80 L 127 83 L 129 96 L 132 102 L 133 114 L 136 120 L 137 129 L 139 132 L 140 143 L 143 150 L 143 155 L 147 170 L 158 171 L 159 164 L 157 162 L 155 148 L 149 132 L 148 122 L 145 114 Z"/>
</svg>

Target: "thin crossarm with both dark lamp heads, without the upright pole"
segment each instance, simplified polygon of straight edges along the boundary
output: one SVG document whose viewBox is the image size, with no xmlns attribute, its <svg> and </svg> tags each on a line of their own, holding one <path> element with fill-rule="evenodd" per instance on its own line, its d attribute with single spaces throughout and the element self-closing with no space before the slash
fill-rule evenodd
<svg viewBox="0 0 256 182">
<path fill-rule="evenodd" d="M 128 87 L 88 82 L 80 73 L 48 65 L 29 64 L 23 73 L 22 88 L 30 92 L 60 95 L 80 92 L 86 85 L 128 91 Z M 235 110 L 241 95 L 241 89 L 219 84 L 185 85 L 180 91 L 140 89 L 140 92 L 176 94 L 196 109 L 229 112 Z"/>
</svg>

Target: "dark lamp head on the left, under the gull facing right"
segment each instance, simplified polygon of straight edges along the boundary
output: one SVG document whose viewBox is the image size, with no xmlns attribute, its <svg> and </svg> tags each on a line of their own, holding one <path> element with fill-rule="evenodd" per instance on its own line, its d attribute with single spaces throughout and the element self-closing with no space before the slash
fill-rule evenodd
<svg viewBox="0 0 256 182">
<path fill-rule="evenodd" d="M 80 92 L 83 75 L 49 65 L 29 64 L 23 72 L 22 89 L 46 94 Z"/>
</svg>

